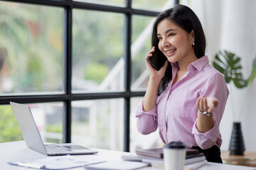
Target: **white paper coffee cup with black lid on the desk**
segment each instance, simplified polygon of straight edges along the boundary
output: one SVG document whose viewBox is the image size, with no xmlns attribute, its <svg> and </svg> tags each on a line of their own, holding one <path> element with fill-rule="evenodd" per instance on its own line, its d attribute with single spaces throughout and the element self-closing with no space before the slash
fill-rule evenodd
<svg viewBox="0 0 256 170">
<path fill-rule="evenodd" d="M 183 170 L 185 159 L 183 142 L 170 142 L 164 146 L 164 170 Z"/>
</svg>

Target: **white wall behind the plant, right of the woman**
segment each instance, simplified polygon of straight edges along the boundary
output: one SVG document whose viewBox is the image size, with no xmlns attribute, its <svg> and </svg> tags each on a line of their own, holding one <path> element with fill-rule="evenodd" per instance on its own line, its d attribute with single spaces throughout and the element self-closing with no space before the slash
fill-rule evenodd
<svg viewBox="0 0 256 170">
<path fill-rule="evenodd" d="M 210 60 L 213 60 L 219 50 L 234 52 L 241 57 L 242 73 L 244 78 L 248 78 L 252 71 L 252 60 L 256 56 L 256 1 L 193 0 L 190 3 L 206 32 L 206 54 Z M 233 83 L 228 84 L 228 88 L 233 95 L 230 94 L 228 98 L 220 123 L 220 132 L 223 136 L 223 145 L 220 148 L 222 150 L 228 150 L 235 121 L 231 99 L 233 98 L 235 116 L 238 118 L 246 94 L 246 89 L 236 89 Z M 256 79 L 242 109 L 242 116 L 238 120 L 242 122 L 245 149 L 256 152 Z"/>
</svg>

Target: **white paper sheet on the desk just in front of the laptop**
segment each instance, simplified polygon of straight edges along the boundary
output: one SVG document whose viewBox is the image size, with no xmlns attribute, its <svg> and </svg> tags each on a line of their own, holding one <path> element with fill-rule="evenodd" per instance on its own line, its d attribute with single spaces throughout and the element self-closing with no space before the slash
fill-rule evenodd
<svg viewBox="0 0 256 170">
<path fill-rule="evenodd" d="M 23 162 L 9 162 L 9 164 L 16 166 L 25 166 L 34 169 L 70 169 L 88 164 L 96 164 L 105 162 L 99 159 L 92 159 L 90 157 L 75 157 L 75 156 L 60 156 L 60 157 L 46 157 L 43 159 L 29 160 Z"/>
</svg>

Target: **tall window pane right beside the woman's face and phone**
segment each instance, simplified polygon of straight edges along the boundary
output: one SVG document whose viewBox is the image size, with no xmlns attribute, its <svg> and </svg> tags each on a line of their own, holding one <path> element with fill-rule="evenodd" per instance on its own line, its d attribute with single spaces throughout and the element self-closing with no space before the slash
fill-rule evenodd
<svg viewBox="0 0 256 170">
<path fill-rule="evenodd" d="M 151 28 L 153 17 L 132 17 L 132 90 L 146 90 L 149 74 L 144 57 L 151 49 Z"/>
</svg>

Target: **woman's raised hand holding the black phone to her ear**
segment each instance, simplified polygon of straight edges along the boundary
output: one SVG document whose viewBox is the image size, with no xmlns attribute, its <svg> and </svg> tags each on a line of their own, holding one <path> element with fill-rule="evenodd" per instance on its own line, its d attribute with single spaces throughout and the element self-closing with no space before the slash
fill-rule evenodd
<svg viewBox="0 0 256 170">
<path fill-rule="evenodd" d="M 155 51 L 155 47 L 153 46 L 151 50 L 149 50 L 149 53 L 146 55 L 145 57 L 145 62 L 146 62 L 146 69 L 149 72 L 149 78 L 150 79 L 157 79 L 159 81 L 161 81 L 161 79 L 164 77 L 164 73 L 166 71 L 166 68 L 168 66 L 168 60 L 166 60 L 166 62 L 164 63 L 164 66 L 161 67 L 161 69 L 159 71 L 157 71 L 156 69 L 154 69 L 151 64 L 149 63 L 148 57 L 152 56 L 152 53 Z"/>
</svg>

